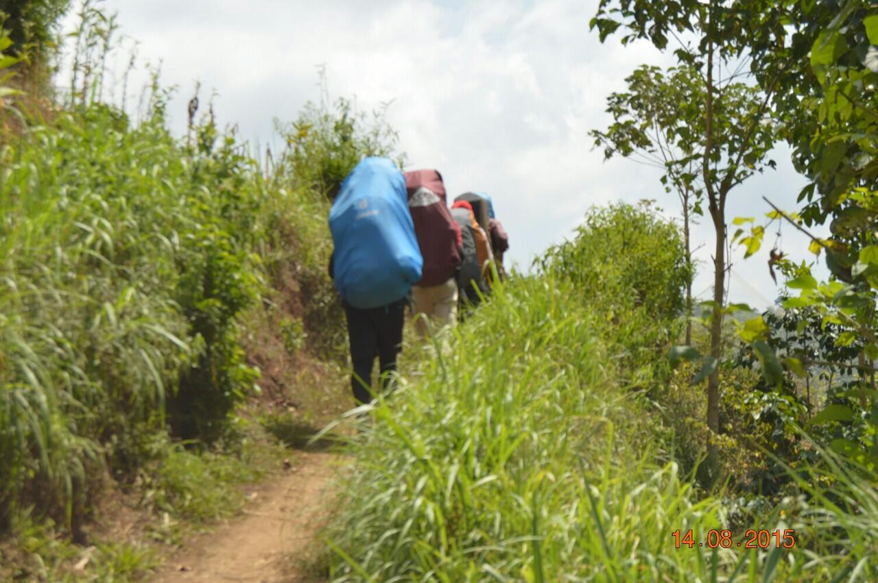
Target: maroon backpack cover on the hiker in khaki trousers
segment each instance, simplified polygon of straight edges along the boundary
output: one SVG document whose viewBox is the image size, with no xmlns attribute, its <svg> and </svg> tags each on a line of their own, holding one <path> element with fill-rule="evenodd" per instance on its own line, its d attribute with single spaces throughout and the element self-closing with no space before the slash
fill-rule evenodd
<svg viewBox="0 0 878 583">
<path fill-rule="evenodd" d="M 424 258 L 418 286 L 437 286 L 449 281 L 460 265 L 456 224 L 445 203 L 442 175 L 435 170 L 406 173 L 408 210 L 412 213 L 414 234 Z"/>
</svg>

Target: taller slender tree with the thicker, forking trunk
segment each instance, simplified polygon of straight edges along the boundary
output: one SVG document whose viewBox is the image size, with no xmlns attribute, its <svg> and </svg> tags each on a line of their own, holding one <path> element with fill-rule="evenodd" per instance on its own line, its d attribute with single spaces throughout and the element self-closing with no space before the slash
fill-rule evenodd
<svg viewBox="0 0 878 583">
<path fill-rule="evenodd" d="M 623 45 L 649 39 L 666 50 L 669 39 L 678 48 L 680 65 L 692 68 L 702 78 L 703 91 L 690 96 L 697 103 L 698 119 L 685 139 L 687 147 L 702 158 L 704 196 L 716 234 L 714 294 L 710 319 L 710 354 L 704 362 L 708 375 L 708 425 L 719 432 L 719 361 L 723 356 L 722 329 L 725 311 L 726 245 L 725 208 L 729 194 L 755 172 L 774 167 L 766 160 L 774 146 L 774 126 L 767 117 L 774 87 L 751 89 L 738 82 L 745 75 L 747 40 L 752 33 L 752 15 L 739 4 L 721 0 L 601 0 L 591 27 L 600 32 L 601 42 L 622 28 Z M 773 2 L 751 0 L 753 10 L 768 11 Z M 684 39 L 685 38 L 685 39 Z M 694 39 L 694 40 L 688 40 Z M 701 375 L 699 375 L 701 376 Z"/>
</svg>

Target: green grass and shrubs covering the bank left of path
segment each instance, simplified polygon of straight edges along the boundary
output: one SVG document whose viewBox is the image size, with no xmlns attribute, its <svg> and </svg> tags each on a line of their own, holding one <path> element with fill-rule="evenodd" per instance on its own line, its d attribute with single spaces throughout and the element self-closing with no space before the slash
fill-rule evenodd
<svg viewBox="0 0 878 583">
<path fill-rule="evenodd" d="M 90 3 L 81 16 L 70 110 L 25 124 L 0 151 L 0 530 L 36 504 L 76 531 L 106 471 L 133 480 L 145 464 L 141 480 L 161 484 L 156 508 L 216 506 L 198 502 L 211 488 L 195 492 L 215 464 L 149 444 L 167 429 L 187 444 L 228 435 L 234 409 L 258 391 L 239 320 L 277 299 L 266 275 L 277 285 L 292 271 L 284 289 L 306 305 L 284 328 L 290 349 L 340 352 L 328 201 L 311 173 L 346 174 L 395 140 L 349 102 L 309 106 L 299 119 L 309 141 L 263 174 L 213 123 L 212 103 L 184 143 L 174 139 L 157 79 L 132 124 L 95 89 L 112 18 Z M 177 480 L 176 462 L 195 477 Z"/>
</svg>

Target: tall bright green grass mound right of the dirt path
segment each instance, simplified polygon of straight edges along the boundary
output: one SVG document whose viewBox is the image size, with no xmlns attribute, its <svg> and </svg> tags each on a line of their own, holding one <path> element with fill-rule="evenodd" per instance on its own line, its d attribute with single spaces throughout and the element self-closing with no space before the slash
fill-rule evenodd
<svg viewBox="0 0 878 583">
<path fill-rule="evenodd" d="M 825 499 L 738 510 L 695 489 L 666 461 L 654 409 L 603 364 L 605 308 L 580 298 L 551 274 L 518 278 L 409 354 L 411 373 L 350 444 L 332 580 L 830 580 L 858 562 L 874 574 L 868 528 L 838 533 L 845 517 Z M 801 529 L 799 546 L 699 551 L 670 536 L 735 528 L 743 541 L 754 525 Z"/>
</svg>

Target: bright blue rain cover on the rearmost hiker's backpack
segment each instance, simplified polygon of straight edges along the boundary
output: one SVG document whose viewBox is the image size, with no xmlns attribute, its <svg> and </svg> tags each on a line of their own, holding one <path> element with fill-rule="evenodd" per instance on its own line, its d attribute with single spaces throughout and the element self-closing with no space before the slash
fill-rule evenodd
<svg viewBox="0 0 878 583">
<path fill-rule="evenodd" d="M 335 288 L 355 308 L 396 302 L 421 279 L 406 179 L 386 158 L 361 161 L 329 210 Z"/>
</svg>

